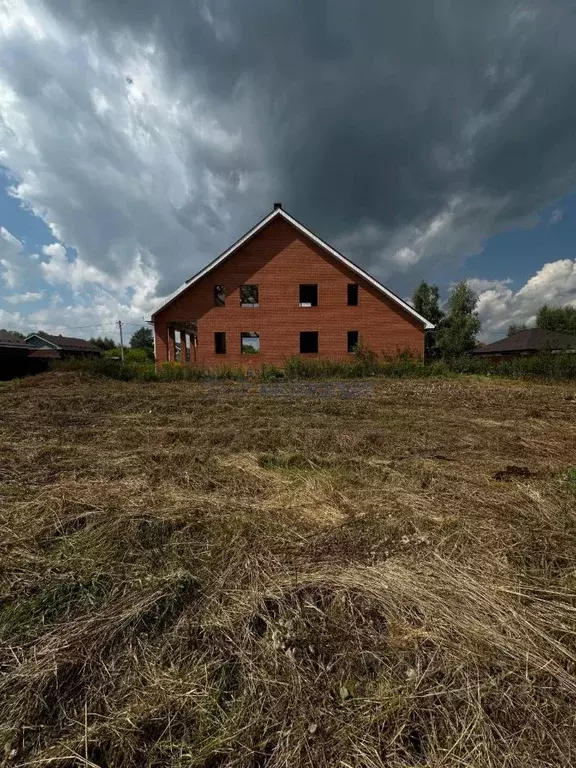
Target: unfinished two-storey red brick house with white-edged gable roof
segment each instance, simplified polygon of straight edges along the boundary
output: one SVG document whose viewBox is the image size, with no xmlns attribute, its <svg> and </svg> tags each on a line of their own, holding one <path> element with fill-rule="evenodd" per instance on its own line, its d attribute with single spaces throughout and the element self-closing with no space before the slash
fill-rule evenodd
<svg viewBox="0 0 576 768">
<path fill-rule="evenodd" d="M 156 361 L 215 367 L 424 355 L 433 326 L 277 203 L 152 315 Z"/>
</svg>

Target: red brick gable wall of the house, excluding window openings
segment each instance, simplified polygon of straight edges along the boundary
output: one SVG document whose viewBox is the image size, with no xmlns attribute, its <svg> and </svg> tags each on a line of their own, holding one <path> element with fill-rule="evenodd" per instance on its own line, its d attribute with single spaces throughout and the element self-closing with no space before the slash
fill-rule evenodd
<svg viewBox="0 0 576 768">
<path fill-rule="evenodd" d="M 239 287 L 251 283 L 258 285 L 260 306 L 241 307 Z M 298 306 L 300 283 L 318 284 L 317 307 Z M 348 283 L 358 283 L 357 307 L 347 306 Z M 224 307 L 214 306 L 215 285 L 225 286 Z M 198 323 L 196 362 L 210 367 L 281 365 L 300 354 L 300 331 L 318 331 L 318 354 L 304 358 L 349 358 L 347 331 L 359 331 L 378 354 L 424 354 L 424 331 L 412 315 L 280 217 L 156 315 L 158 363 L 168 359 L 167 323 L 191 320 Z M 214 353 L 216 331 L 226 333 L 225 355 Z M 260 334 L 258 355 L 241 354 L 242 331 Z"/>
</svg>

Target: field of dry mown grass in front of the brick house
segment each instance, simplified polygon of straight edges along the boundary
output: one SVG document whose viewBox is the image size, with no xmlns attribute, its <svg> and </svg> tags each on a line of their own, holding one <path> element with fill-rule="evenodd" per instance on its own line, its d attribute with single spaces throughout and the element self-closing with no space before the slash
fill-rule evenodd
<svg viewBox="0 0 576 768">
<path fill-rule="evenodd" d="M 576 765 L 574 384 L 0 412 L 0 766 Z"/>
</svg>

